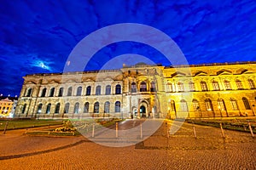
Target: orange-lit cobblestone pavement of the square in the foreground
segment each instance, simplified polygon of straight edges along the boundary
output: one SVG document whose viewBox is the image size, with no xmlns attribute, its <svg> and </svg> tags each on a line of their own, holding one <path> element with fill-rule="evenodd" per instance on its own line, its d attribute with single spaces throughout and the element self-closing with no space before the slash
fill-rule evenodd
<svg viewBox="0 0 256 170">
<path fill-rule="evenodd" d="M 170 127 L 170 122 L 167 127 Z M 84 137 L 32 137 L 21 131 L 0 135 L 0 169 L 256 169 L 256 143 L 250 133 L 195 125 L 183 126 L 167 138 L 166 124 L 143 143 L 128 147 L 106 147 Z M 4 156 L 73 146 L 33 156 Z M 111 142 L 107 141 L 106 142 Z"/>
</svg>

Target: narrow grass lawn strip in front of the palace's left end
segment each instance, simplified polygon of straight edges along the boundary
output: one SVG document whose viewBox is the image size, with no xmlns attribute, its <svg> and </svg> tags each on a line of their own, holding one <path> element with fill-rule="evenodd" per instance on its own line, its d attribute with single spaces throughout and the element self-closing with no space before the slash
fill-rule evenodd
<svg viewBox="0 0 256 170">
<path fill-rule="evenodd" d="M 58 120 L 9 120 L 9 121 L 0 120 L 0 131 L 3 131 L 7 122 L 8 122 L 7 130 L 63 124 L 63 122 L 60 120 L 59 121 Z"/>
</svg>

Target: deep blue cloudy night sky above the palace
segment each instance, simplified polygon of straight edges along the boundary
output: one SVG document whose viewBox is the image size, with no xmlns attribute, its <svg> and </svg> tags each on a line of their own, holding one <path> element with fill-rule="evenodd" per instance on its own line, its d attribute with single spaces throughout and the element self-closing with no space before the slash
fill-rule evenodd
<svg viewBox="0 0 256 170">
<path fill-rule="evenodd" d="M 256 60 L 253 0 L 2 0 L 0 21 L 3 95 L 19 95 L 26 74 L 62 72 L 78 42 L 97 29 L 119 23 L 139 23 L 165 32 L 189 64 Z M 145 44 L 116 42 L 96 53 L 86 70 L 101 69 L 102 61 L 121 54 L 140 54 L 170 65 Z"/>
</svg>

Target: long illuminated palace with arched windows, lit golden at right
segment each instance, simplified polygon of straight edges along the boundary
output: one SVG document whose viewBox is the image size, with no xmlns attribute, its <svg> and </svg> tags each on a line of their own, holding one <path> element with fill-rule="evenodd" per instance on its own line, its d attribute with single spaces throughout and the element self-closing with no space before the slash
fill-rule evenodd
<svg viewBox="0 0 256 170">
<path fill-rule="evenodd" d="M 32 118 L 255 116 L 256 62 L 124 65 L 26 75 L 15 111 Z"/>
</svg>

